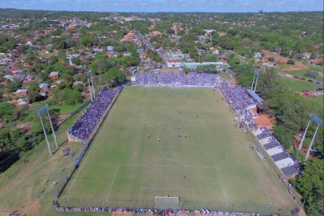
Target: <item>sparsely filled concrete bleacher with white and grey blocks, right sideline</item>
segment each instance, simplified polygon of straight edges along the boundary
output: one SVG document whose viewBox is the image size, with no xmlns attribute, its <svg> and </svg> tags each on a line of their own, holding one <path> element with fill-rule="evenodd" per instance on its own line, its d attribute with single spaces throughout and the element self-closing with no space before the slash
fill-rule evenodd
<svg viewBox="0 0 324 216">
<path fill-rule="evenodd" d="M 286 152 L 267 129 L 257 128 L 252 133 L 284 176 L 296 176 L 298 174 L 295 162 L 290 157 L 290 154 Z"/>
</svg>

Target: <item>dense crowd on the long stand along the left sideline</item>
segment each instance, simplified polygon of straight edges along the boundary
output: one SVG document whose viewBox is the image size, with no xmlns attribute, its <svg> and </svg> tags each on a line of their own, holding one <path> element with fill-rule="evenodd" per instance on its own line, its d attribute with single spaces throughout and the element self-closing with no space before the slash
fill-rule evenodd
<svg viewBox="0 0 324 216">
<path fill-rule="evenodd" d="M 68 134 L 83 141 L 88 140 L 115 94 L 116 91 L 105 87 L 84 114 L 75 121 Z"/>
</svg>

